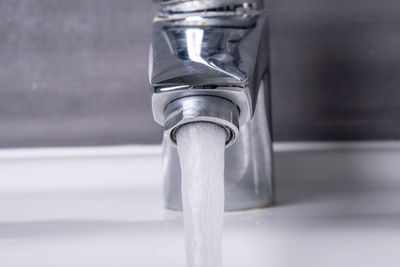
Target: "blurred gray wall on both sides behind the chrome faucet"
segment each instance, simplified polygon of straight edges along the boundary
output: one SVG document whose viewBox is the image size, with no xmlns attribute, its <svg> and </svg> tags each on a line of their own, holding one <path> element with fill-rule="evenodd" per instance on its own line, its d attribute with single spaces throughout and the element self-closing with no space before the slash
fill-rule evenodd
<svg viewBox="0 0 400 267">
<path fill-rule="evenodd" d="M 276 140 L 400 137 L 400 2 L 270 0 Z M 0 147 L 159 142 L 149 0 L 0 0 Z"/>
</svg>

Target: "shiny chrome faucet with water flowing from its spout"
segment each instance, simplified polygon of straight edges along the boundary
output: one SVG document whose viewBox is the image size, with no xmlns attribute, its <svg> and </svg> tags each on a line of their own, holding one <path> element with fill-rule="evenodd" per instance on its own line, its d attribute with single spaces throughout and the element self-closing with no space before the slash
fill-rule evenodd
<svg viewBox="0 0 400 267">
<path fill-rule="evenodd" d="M 165 207 L 182 210 L 176 132 L 210 122 L 227 133 L 225 210 L 274 204 L 268 16 L 263 0 L 156 0 L 149 80 L 164 127 Z"/>
</svg>

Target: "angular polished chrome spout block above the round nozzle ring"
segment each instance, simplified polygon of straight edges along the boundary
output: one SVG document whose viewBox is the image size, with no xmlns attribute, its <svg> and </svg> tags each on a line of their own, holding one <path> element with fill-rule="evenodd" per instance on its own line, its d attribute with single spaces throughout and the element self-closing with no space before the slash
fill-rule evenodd
<svg viewBox="0 0 400 267">
<path fill-rule="evenodd" d="M 165 107 L 174 99 L 214 95 L 238 105 L 240 125 L 250 121 L 268 61 L 266 16 L 243 28 L 170 23 L 153 25 L 149 79 L 154 119 L 162 125 Z"/>
</svg>

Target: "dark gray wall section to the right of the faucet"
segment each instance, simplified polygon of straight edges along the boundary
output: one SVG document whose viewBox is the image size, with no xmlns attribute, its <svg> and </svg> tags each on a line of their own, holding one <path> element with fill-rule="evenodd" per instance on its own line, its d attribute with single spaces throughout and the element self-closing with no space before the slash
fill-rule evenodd
<svg viewBox="0 0 400 267">
<path fill-rule="evenodd" d="M 400 1 L 271 1 L 279 140 L 400 137 Z"/>
</svg>

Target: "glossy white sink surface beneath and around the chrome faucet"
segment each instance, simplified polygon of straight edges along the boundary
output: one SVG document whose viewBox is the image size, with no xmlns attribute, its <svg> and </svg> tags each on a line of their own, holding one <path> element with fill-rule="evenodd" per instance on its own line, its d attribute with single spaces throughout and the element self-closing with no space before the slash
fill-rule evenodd
<svg viewBox="0 0 400 267">
<path fill-rule="evenodd" d="M 225 214 L 224 266 L 398 266 L 400 144 L 278 143 L 278 205 Z M 159 146 L 0 151 L 0 266 L 184 266 Z"/>
</svg>

